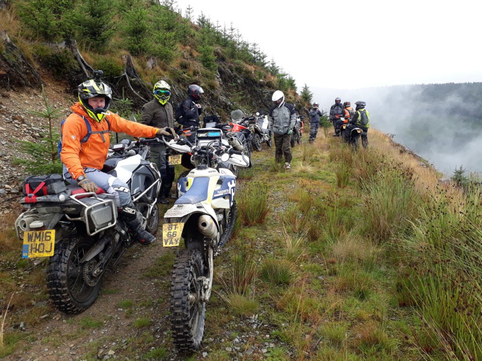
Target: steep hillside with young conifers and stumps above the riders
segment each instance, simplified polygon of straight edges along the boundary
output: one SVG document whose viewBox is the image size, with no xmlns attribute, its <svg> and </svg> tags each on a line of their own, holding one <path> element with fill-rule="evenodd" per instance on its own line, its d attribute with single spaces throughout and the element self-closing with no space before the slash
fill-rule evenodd
<svg viewBox="0 0 482 361">
<path fill-rule="evenodd" d="M 232 24 L 220 27 L 204 15 L 191 20 L 189 12 L 187 18 L 175 12 L 172 2 L 147 0 L 20 0 L 0 10 L 3 30 L 25 58 L 66 80 L 73 93 L 91 69 L 103 70 L 114 98 L 121 99 L 117 110 L 139 109 L 160 79 L 173 87 L 173 104 L 185 97 L 187 85 L 201 85 L 206 114 L 269 107 L 275 89 L 298 109 L 306 106 L 294 79 Z M 19 59 L 9 54 L 0 47 L 0 61 L 15 70 Z M 15 86 L 18 74 L 8 73 L 6 87 Z"/>
</svg>

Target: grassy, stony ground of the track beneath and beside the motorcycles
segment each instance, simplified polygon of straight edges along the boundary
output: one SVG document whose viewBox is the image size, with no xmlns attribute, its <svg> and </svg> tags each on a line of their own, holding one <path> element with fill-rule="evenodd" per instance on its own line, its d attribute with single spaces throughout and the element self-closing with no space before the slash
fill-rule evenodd
<svg viewBox="0 0 482 361">
<path fill-rule="evenodd" d="M 358 152 L 329 132 L 305 134 L 290 171 L 266 149 L 240 174 L 204 346 L 188 359 L 479 360 L 478 190 L 439 185 L 376 130 Z M 0 298 L 16 293 L 0 356 L 186 359 L 169 332 L 175 251 L 134 247 L 69 316 L 47 301 L 44 263 L 19 260 L 11 228 L 1 239 Z"/>
</svg>

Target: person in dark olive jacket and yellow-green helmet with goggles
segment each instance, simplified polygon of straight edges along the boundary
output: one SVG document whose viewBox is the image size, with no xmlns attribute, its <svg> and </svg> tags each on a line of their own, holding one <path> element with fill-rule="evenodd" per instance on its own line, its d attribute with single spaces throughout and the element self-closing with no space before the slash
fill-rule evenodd
<svg viewBox="0 0 482 361">
<path fill-rule="evenodd" d="M 174 114 L 171 103 L 171 87 L 164 80 L 157 82 L 153 89 L 154 99 L 142 107 L 141 123 L 154 126 L 156 128 L 174 128 Z M 161 173 L 162 188 L 158 203 L 168 204 L 169 192 L 175 172 L 174 165 L 169 165 L 168 155 L 166 155 L 166 145 L 159 144 L 151 146 L 151 161 L 157 164 Z"/>
</svg>

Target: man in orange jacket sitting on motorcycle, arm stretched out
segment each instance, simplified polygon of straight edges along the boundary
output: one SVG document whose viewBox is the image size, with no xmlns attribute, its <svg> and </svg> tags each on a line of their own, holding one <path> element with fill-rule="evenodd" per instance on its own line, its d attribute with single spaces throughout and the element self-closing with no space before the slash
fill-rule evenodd
<svg viewBox="0 0 482 361">
<path fill-rule="evenodd" d="M 72 114 L 62 122 L 59 147 L 60 159 L 64 164 L 63 176 L 68 183 L 77 183 L 86 192 L 96 193 L 98 186 L 114 195 L 115 203 L 120 208 L 119 218 L 126 223 L 133 239 L 141 244 L 149 244 L 155 237 L 142 227 L 128 185 L 101 169 L 107 158 L 110 131 L 135 137 L 170 133 L 166 128 L 138 124 L 108 112 L 112 91 L 100 80 L 101 76 L 102 72 L 95 71 L 94 79 L 79 85 L 79 101 L 71 107 Z"/>
</svg>

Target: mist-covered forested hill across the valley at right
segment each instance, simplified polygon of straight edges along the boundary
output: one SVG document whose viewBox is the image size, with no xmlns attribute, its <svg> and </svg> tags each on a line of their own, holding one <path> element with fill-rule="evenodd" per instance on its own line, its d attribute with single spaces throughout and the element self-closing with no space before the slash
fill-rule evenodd
<svg viewBox="0 0 482 361">
<path fill-rule="evenodd" d="M 335 97 L 367 103 L 370 125 L 451 175 L 482 173 L 482 83 L 400 85 L 357 90 L 313 88 L 329 112 Z M 370 140 L 370 133 L 369 133 Z"/>
</svg>

